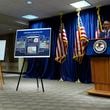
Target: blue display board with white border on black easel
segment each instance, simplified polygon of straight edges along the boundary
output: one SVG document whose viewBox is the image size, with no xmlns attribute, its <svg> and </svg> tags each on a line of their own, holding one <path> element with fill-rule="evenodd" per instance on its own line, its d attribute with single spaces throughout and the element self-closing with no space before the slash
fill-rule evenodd
<svg viewBox="0 0 110 110">
<path fill-rule="evenodd" d="M 16 31 L 15 58 L 50 57 L 51 28 Z"/>
</svg>

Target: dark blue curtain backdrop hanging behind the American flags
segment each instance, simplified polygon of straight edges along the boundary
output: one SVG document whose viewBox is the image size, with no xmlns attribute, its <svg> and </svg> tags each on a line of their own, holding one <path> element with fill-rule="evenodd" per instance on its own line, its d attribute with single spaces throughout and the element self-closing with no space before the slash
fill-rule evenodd
<svg viewBox="0 0 110 110">
<path fill-rule="evenodd" d="M 93 8 L 89 10 L 83 10 L 81 11 L 80 15 L 87 33 L 87 37 L 89 39 L 95 38 L 95 31 L 97 27 L 96 9 Z M 77 81 L 79 79 L 82 83 L 90 83 L 91 70 L 90 70 L 90 60 L 88 56 L 84 57 L 82 64 L 78 64 L 72 58 L 74 49 L 74 40 L 76 37 L 77 30 L 77 13 L 66 14 L 63 16 L 62 20 L 65 25 L 67 38 L 69 42 L 68 55 L 63 64 L 59 64 L 54 60 L 56 41 L 60 26 L 60 17 L 58 16 L 30 22 L 30 28 L 47 28 L 47 27 L 52 28 L 51 56 L 50 58 L 27 59 L 28 68 L 26 76 L 36 77 L 38 75 L 46 79 L 62 78 L 64 81 Z"/>
</svg>

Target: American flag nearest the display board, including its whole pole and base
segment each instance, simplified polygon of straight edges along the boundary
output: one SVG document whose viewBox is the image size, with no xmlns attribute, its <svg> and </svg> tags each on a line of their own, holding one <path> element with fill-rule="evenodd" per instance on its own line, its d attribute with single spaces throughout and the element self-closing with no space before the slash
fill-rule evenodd
<svg viewBox="0 0 110 110">
<path fill-rule="evenodd" d="M 59 34 L 57 37 L 57 45 L 56 45 L 56 57 L 55 60 L 59 63 L 59 70 L 60 70 L 60 79 L 62 80 L 62 75 L 61 75 L 61 68 L 62 68 L 62 63 L 64 62 L 66 55 L 67 55 L 67 45 L 68 39 L 66 35 L 66 30 L 64 28 L 64 24 L 62 21 L 62 13 L 59 16 L 59 22 L 60 22 L 60 27 L 59 27 Z"/>
</svg>

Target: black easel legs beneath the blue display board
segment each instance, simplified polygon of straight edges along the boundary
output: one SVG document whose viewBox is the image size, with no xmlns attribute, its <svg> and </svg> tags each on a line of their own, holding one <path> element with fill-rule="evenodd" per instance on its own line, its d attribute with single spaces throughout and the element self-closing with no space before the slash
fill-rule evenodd
<svg viewBox="0 0 110 110">
<path fill-rule="evenodd" d="M 19 76 L 19 79 L 18 79 L 16 91 L 18 91 L 18 88 L 19 88 L 19 84 L 20 84 L 20 81 L 21 81 L 21 76 L 23 74 L 24 65 L 25 65 L 25 59 L 23 60 L 23 65 L 22 65 L 20 76 Z M 37 81 L 37 88 L 39 88 L 38 77 L 36 77 L 36 81 Z M 41 78 L 41 85 L 42 85 L 42 91 L 44 92 L 44 84 L 43 84 L 43 79 L 42 78 Z"/>
</svg>

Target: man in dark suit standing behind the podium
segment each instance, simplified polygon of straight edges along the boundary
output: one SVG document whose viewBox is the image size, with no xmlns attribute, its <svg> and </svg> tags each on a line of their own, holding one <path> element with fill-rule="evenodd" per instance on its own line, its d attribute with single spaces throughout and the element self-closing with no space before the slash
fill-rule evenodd
<svg viewBox="0 0 110 110">
<path fill-rule="evenodd" d="M 110 38 L 110 21 L 104 21 L 103 23 L 103 30 L 100 33 L 101 38 Z"/>
</svg>

